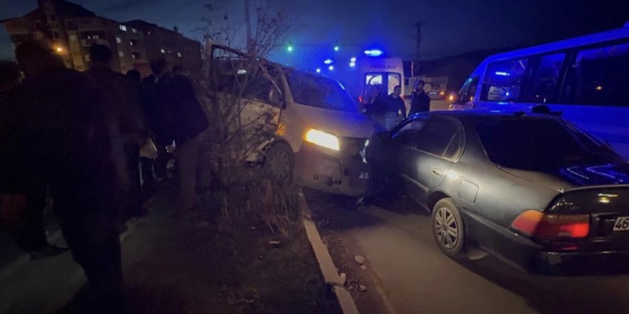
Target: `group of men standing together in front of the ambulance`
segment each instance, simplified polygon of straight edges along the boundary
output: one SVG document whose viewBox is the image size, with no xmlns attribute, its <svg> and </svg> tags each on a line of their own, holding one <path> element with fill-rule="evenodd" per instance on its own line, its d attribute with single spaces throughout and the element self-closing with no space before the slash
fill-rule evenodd
<svg viewBox="0 0 629 314">
<path fill-rule="evenodd" d="M 407 116 L 430 111 L 430 97 L 424 91 L 425 82 L 422 80 L 415 82 L 408 114 L 404 99 L 401 96 L 402 86 L 395 86 L 393 92 L 388 96 L 382 95 L 382 86 L 367 86 L 370 87 L 370 90 L 367 91 L 367 97 L 363 103 L 365 113 L 387 130 L 397 126 Z"/>
</svg>

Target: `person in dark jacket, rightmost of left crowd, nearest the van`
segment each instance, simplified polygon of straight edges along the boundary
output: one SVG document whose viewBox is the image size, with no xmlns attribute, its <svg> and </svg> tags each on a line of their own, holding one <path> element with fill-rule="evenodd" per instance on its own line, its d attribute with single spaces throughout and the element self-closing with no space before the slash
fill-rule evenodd
<svg viewBox="0 0 629 314">
<path fill-rule="evenodd" d="M 196 188 L 197 161 L 202 133 L 209 123 L 201 103 L 184 75 L 170 76 L 164 61 L 152 64 L 158 77 L 154 84 L 154 99 L 159 115 L 162 139 L 174 141 L 174 157 L 179 169 L 179 204 L 176 214 L 192 209 Z"/>
</svg>

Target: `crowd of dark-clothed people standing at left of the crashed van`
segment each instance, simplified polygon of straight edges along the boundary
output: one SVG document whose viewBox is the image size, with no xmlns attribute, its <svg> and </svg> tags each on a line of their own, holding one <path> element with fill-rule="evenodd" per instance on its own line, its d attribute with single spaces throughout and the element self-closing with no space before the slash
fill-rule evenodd
<svg viewBox="0 0 629 314">
<path fill-rule="evenodd" d="M 112 70 L 112 51 L 89 48 L 91 69 L 67 69 L 49 45 L 16 48 L 17 64 L 0 62 L 0 201 L 17 245 L 32 259 L 64 253 L 44 231 L 54 204 L 61 232 L 84 269 L 94 300 L 122 309 L 120 226 L 142 216 L 142 191 L 165 178 L 166 146 L 177 146 L 177 213 L 194 206 L 199 144 L 208 128 L 190 78 L 152 61 L 140 80 Z M 141 147 L 157 143 L 157 160 Z M 142 174 L 141 174 L 142 173 Z"/>
</svg>

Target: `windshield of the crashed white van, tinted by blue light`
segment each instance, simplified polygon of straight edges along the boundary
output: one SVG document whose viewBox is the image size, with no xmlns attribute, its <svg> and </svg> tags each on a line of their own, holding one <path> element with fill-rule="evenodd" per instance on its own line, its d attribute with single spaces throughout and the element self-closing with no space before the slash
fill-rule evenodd
<svg viewBox="0 0 629 314">
<path fill-rule="evenodd" d="M 330 78 L 299 71 L 286 71 L 295 103 L 337 111 L 358 112 L 358 106 L 345 88 Z"/>
</svg>

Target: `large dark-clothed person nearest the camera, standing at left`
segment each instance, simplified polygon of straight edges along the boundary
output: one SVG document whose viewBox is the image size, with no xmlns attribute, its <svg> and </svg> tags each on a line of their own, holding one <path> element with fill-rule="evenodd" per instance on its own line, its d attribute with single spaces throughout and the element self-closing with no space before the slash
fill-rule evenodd
<svg viewBox="0 0 629 314">
<path fill-rule="evenodd" d="M 124 308 L 122 263 L 114 218 L 122 199 L 116 186 L 103 96 L 89 76 L 66 69 L 49 46 L 16 49 L 26 80 L 19 91 L 21 159 L 49 184 L 55 213 L 74 259 L 84 269 L 105 313 Z M 28 173 L 28 172 L 26 172 Z"/>
</svg>

